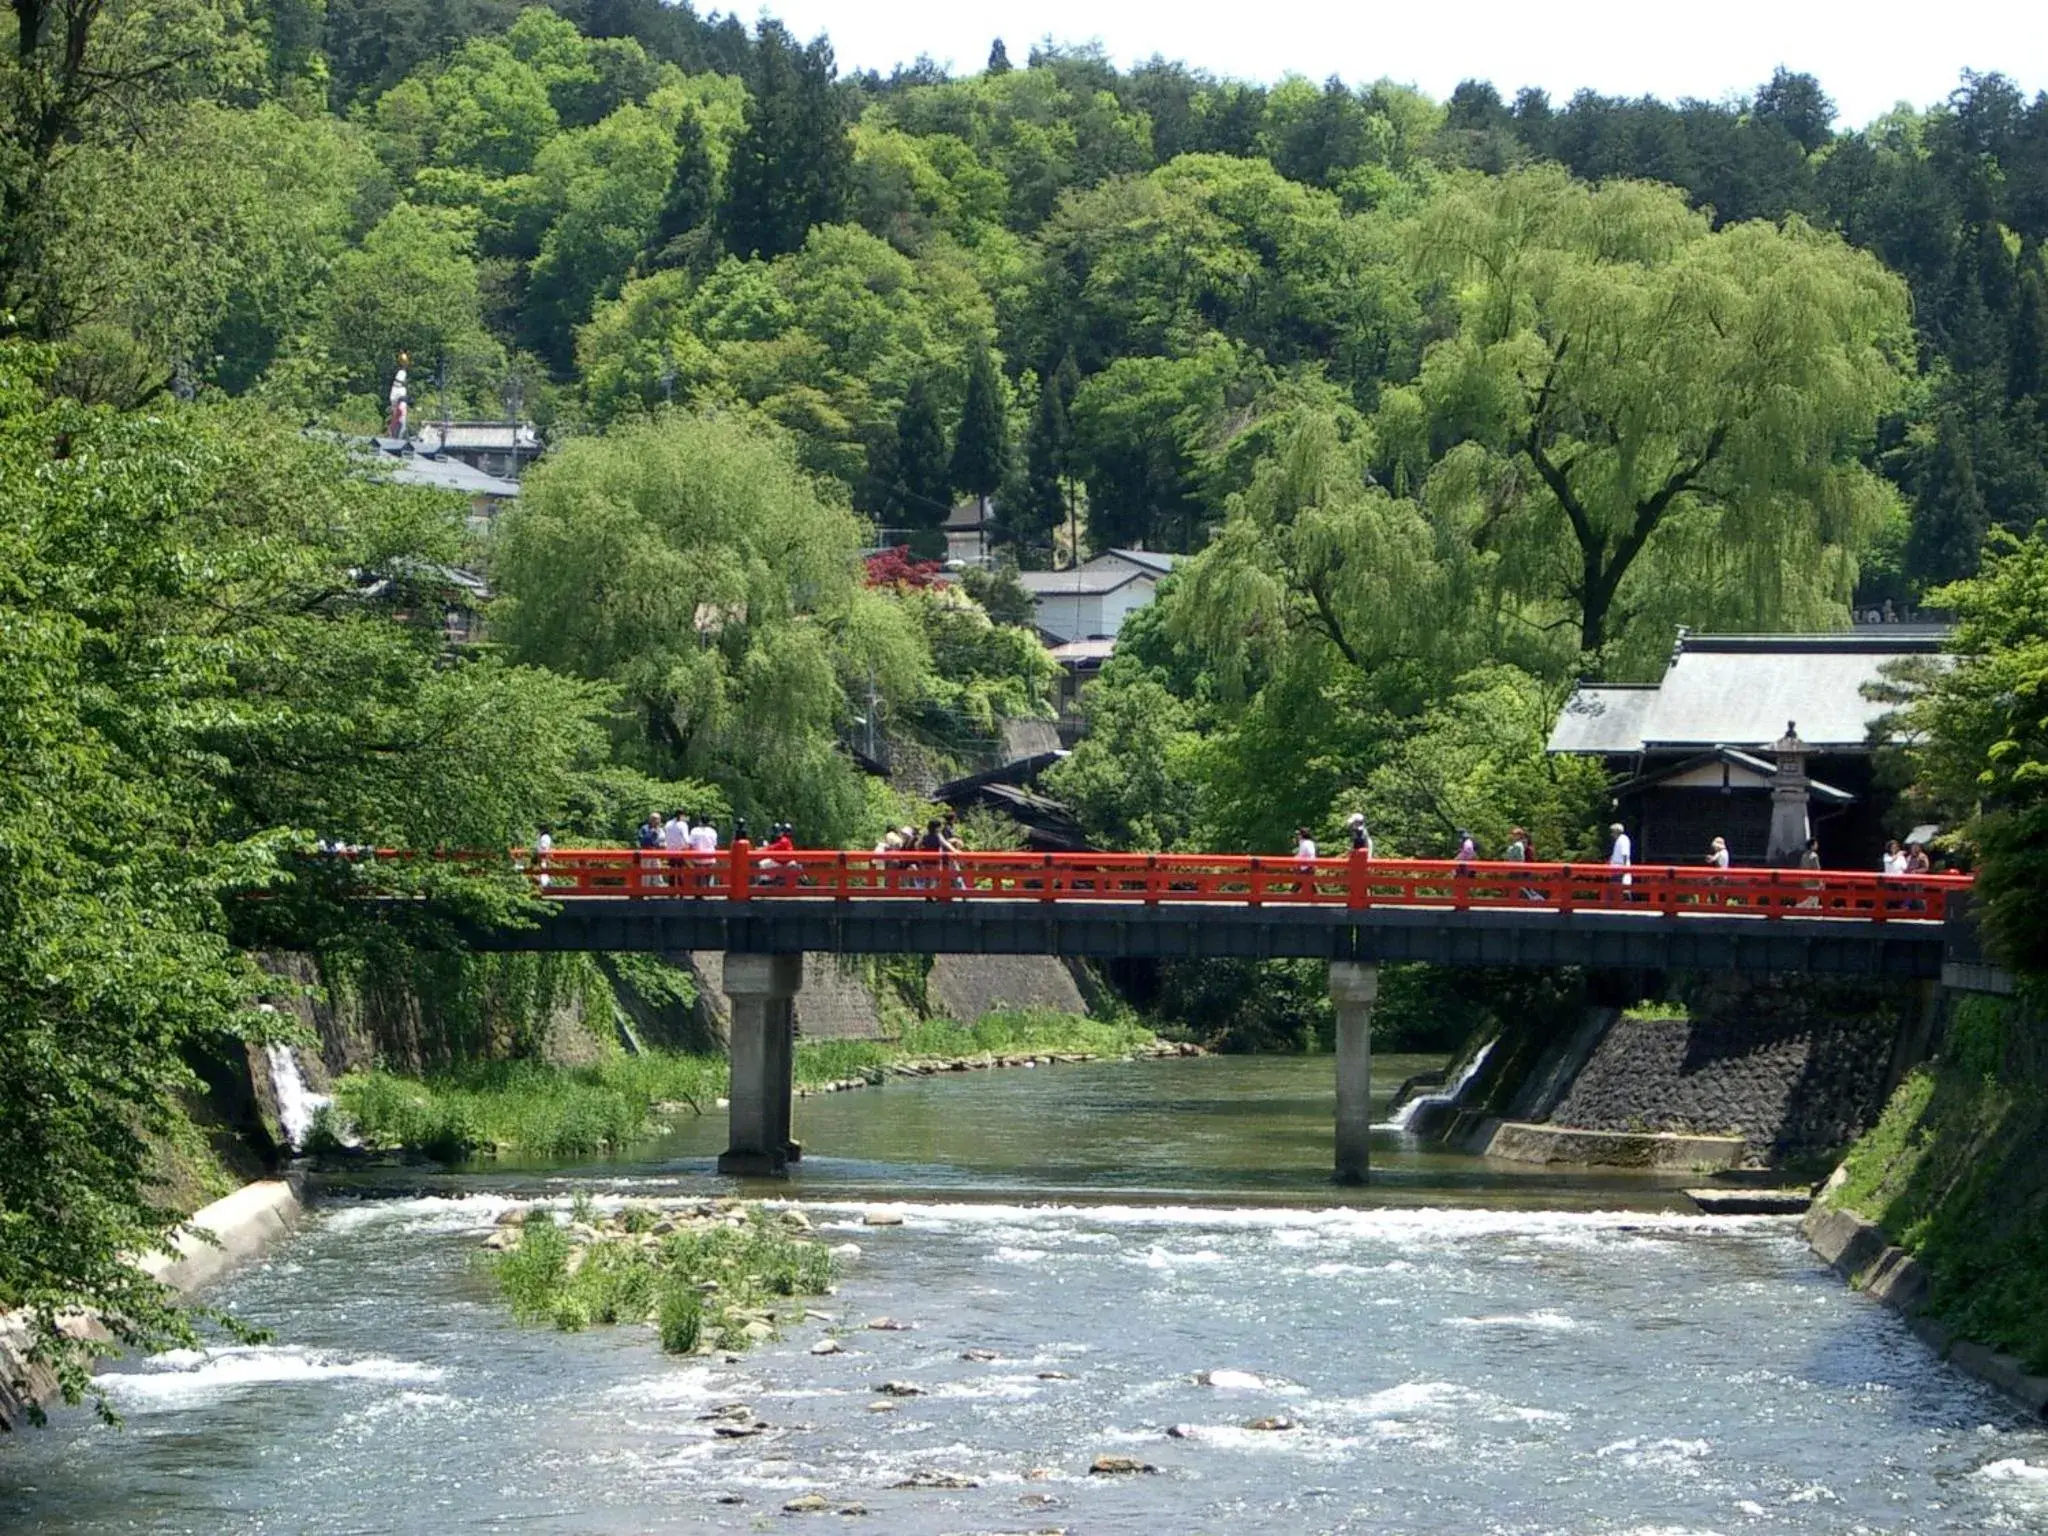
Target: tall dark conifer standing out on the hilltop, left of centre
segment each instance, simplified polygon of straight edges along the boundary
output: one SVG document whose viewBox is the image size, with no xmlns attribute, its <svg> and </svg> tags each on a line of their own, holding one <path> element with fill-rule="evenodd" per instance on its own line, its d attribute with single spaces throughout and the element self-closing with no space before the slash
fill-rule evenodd
<svg viewBox="0 0 2048 1536">
<path fill-rule="evenodd" d="M 799 47 L 782 23 L 762 20 L 725 182 L 725 244 L 743 256 L 797 250 L 813 225 L 846 211 L 852 164 L 831 45 L 817 37 Z"/>
</svg>

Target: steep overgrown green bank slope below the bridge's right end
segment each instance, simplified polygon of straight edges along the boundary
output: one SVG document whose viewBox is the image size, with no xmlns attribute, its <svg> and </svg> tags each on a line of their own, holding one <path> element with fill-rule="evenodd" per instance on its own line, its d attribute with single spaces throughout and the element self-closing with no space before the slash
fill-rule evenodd
<svg viewBox="0 0 2048 1536">
<path fill-rule="evenodd" d="M 1827 1200 L 1927 1268 L 1925 1311 L 1956 1337 L 2048 1374 L 2048 1024 L 1962 1001 Z"/>
</svg>

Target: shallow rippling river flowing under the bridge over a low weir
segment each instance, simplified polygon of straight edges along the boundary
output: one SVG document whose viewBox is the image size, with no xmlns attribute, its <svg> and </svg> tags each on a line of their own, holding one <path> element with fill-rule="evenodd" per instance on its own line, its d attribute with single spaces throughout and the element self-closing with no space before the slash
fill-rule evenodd
<svg viewBox="0 0 2048 1536">
<path fill-rule="evenodd" d="M 1415 1063 L 1378 1065 L 1386 1092 Z M 0 1530 L 2048 1530 L 2048 1436 L 1790 1221 L 1395 1135 L 1339 1194 L 1329 1102 L 1327 1059 L 805 1100 L 786 1194 L 860 1249 L 819 1303 L 836 1356 L 809 1354 L 823 1321 L 737 1362 L 522 1329 L 477 1268 L 514 1200 L 729 1188 L 717 1116 L 618 1163 L 340 1194 L 209 1296 L 270 1343 L 125 1366 L 125 1427 L 0 1444 Z M 717 1438 L 731 1401 L 774 1427 Z M 928 1473 L 977 1487 L 895 1487 Z M 811 1491 L 834 1513 L 780 1513 Z"/>
</svg>

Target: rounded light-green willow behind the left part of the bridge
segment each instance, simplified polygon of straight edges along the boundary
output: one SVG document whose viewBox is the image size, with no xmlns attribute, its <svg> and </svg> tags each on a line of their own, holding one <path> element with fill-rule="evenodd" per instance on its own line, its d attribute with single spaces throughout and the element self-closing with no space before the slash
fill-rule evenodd
<svg viewBox="0 0 2048 1536">
<path fill-rule="evenodd" d="M 930 672 L 915 625 L 860 584 L 864 532 L 782 434 L 668 412 L 526 477 L 492 565 L 498 629 L 524 659 L 616 684 L 647 768 L 848 838 L 866 788 L 836 735 Z"/>
</svg>

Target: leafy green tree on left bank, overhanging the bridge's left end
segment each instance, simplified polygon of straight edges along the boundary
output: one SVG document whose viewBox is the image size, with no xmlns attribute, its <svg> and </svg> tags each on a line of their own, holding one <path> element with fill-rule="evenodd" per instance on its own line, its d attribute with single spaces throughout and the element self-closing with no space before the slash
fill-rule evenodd
<svg viewBox="0 0 2048 1536">
<path fill-rule="evenodd" d="M 381 926 L 313 836 L 506 846 L 604 737 L 588 686 L 408 618 L 446 596 L 459 506 L 254 412 L 53 399 L 49 362 L 0 346 L 0 1309 L 78 1401 L 109 1352 L 63 1333 L 78 1311 L 137 1350 L 203 1321 L 133 1260 L 180 1227 L 147 1139 L 190 1063 L 279 1028 L 242 946 Z M 436 860 L 348 885 L 524 903 Z"/>
</svg>

